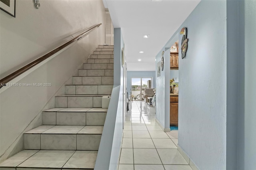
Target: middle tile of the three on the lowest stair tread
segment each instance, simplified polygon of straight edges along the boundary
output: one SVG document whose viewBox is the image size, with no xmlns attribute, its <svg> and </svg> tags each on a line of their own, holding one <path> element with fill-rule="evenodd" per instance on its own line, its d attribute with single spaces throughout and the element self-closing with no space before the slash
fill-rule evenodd
<svg viewBox="0 0 256 170">
<path fill-rule="evenodd" d="M 40 150 L 18 167 L 62 168 L 74 150 Z"/>
</svg>

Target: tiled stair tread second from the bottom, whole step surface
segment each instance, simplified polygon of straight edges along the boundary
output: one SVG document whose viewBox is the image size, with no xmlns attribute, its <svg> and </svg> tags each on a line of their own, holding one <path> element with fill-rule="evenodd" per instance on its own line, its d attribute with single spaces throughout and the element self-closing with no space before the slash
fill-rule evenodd
<svg viewBox="0 0 256 170">
<path fill-rule="evenodd" d="M 48 128 L 46 128 L 46 126 Z M 104 126 L 42 125 L 24 134 L 102 134 Z"/>
</svg>

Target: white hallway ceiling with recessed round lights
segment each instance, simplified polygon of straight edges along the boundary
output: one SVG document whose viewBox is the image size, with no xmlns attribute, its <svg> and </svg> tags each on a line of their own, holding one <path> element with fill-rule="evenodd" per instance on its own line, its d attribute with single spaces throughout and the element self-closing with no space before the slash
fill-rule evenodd
<svg viewBox="0 0 256 170">
<path fill-rule="evenodd" d="M 103 0 L 121 28 L 128 71 L 155 71 L 155 57 L 200 0 Z M 143 35 L 150 35 L 143 38 Z M 144 51 L 144 53 L 139 53 Z M 142 61 L 138 61 L 142 59 Z"/>
</svg>

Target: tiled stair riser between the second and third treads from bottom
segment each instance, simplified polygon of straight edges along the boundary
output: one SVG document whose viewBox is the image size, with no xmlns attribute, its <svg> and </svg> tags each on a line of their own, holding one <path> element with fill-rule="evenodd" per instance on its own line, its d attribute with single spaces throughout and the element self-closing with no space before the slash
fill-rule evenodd
<svg viewBox="0 0 256 170">
<path fill-rule="evenodd" d="M 104 125 L 106 114 L 106 112 L 43 112 L 43 125 Z"/>
</svg>

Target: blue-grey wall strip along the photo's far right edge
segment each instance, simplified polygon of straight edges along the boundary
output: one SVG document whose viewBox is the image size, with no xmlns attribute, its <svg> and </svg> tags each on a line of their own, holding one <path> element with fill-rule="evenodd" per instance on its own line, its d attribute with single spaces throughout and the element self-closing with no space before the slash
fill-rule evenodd
<svg viewBox="0 0 256 170">
<path fill-rule="evenodd" d="M 256 168 L 256 1 L 239 2 L 238 169 Z"/>
</svg>

